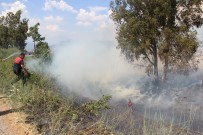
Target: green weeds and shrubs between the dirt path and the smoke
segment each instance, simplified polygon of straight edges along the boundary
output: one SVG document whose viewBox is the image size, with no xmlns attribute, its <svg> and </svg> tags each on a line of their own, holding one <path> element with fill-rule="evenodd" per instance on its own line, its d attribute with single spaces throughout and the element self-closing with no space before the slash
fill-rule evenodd
<svg viewBox="0 0 203 135">
<path fill-rule="evenodd" d="M 18 50 L 1 49 L 0 59 L 16 51 Z M 79 103 L 76 95 L 64 96 L 53 78 L 40 75 L 40 73 L 33 73 L 24 88 L 21 81 L 12 86 L 10 82 L 15 78 L 12 72 L 14 57 L 0 61 L 0 92 L 13 101 L 12 106 L 18 106 L 19 111 L 28 114 L 26 122 L 36 125 L 39 133 L 75 134 L 82 132 L 85 134 L 89 131 L 84 129 L 92 125 L 94 127 L 100 125 L 99 114 L 101 110 L 108 108 L 109 96 L 103 96 L 98 101 L 84 100 L 86 102 Z M 92 132 L 105 131 L 97 128 L 94 130 Z"/>
</svg>

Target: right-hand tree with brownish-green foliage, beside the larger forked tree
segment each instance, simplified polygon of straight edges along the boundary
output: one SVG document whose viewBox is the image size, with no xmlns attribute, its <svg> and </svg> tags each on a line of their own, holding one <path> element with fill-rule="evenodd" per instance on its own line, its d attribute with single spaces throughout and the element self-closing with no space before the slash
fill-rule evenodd
<svg viewBox="0 0 203 135">
<path fill-rule="evenodd" d="M 167 73 L 174 69 L 183 74 L 197 70 L 198 61 L 194 59 L 194 54 L 199 43 L 193 28 L 203 23 L 202 0 L 173 0 L 171 5 L 173 10 L 167 19 L 174 20 L 174 23 L 163 27 L 159 45 L 159 56 L 164 63 L 163 81 Z"/>
</svg>

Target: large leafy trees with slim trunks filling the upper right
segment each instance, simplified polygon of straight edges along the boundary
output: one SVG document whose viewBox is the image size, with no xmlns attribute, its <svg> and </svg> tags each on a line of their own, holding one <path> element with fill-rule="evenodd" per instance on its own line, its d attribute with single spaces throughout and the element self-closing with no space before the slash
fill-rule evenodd
<svg viewBox="0 0 203 135">
<path fill-rule="evenodd" d="M 158 83 L 159 57 L 165 65 L 164 72 L 167 73 L 169 62 L 175 59 L 170 64 L 175 66 L 178 63 L 175 52 L 180 53 L 181 62 L 183 52 L 190 54 L 183 63 L 188 63 L 196 52 L 198 42 L 191 28 L 202 25 L 201 2 L 202 0 L 112 1 L 111 17 L 117 25 L 118 48 L 130 61 L 140 58 L 147 61 L 153 67 L 154 81 Z M 169 33 L 174 36 L 168 36 Z M 187 41 L 192 44 L 185 45 Z"/>
</svg>

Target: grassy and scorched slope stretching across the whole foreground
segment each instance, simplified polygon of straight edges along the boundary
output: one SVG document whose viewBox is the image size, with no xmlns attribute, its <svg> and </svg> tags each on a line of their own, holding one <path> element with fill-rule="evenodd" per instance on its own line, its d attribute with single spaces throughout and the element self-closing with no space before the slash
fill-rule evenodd
<svg viewBox="0 0 203 135">
<path fill-rule="evenodd" d="M 17 51 L 0 49 L 0 59 Z M 189 90 L 201 90 L 198 85 L 177 92 L 178 96 L 177 93 L 167 92 L 160 96 L 177 98 L 174 106 L 165 109 L 161 106 L 149 107 L 148 103 L 167 106 L 166 102 L 162 102 L 167 100 L 157 100 L 159 98 L 156 96 L 149 95 L 133 101 L 134 104 L 129 107 L 126 101 L 112 101 L 109 95 L 90 100 L 72 92 L 64 94 L 55 78 L 40 71 L 32 72 L 26 87 L 22 87 L 21 81 L 12 86 L 10 82 L 15 78 L 12 72 L 14 57 L 0 61 L 0 93 L 12 101 L 10 105 L 13 109 L 25 114 L 24 122 L 33 125 L 39 134 L 202 134 L 202 106 L 196 106 L 198 117 L 194 115 L 195 110 L 184 110 L 184 107 L 189 105 L 184 103 L 195 100 L 196 97 L 190 96 Z M 27 57 L 25 61 L 29 59 L 32 57 Z M 179 112 L 174 111 L 175 109 Z"/>
</svg>

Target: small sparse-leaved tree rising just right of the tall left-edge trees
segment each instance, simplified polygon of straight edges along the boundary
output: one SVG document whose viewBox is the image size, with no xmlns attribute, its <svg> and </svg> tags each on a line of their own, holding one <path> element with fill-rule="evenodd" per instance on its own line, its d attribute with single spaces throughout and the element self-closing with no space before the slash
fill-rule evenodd
<svg viewBox="0 0 203 135">
<path fill-rule="evenodd" d="M 36 49 L 36 42 L 42 42 L 45 40 L 45 37 L 41 37 L 39 34 L 39 26 L 40 23 L 35 24 L 34 26 L 29 28 L 29 33 L 28 36 L 32 37 L 33 42 L 34 42 L 34 50 Z"/>
</svg>

